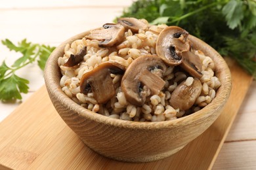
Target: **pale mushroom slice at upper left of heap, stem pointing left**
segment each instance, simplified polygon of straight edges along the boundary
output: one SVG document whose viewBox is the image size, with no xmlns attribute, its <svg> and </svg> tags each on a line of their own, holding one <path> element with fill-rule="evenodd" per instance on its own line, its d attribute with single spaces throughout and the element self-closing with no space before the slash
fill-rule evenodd
<svg viewBox="0 0 256 170">
<path fill-rule="evenodd" d="M 95 29 L 91 31 L 91 34 L 87 35 L 86 39 L 95 39 L 100 47 L 114 46 L 118 42 L 123 40 L 125 35 L 125 27 L 119 24 L 105 24 L 105 29 Z"/>
</svg>

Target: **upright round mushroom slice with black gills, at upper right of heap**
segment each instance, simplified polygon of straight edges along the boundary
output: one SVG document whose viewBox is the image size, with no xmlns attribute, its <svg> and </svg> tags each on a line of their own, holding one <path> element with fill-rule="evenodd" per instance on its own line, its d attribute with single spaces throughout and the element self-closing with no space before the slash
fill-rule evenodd
<svg viewBox="0 0 256 170">
<path fill-rule="evenodd" d="M 156 54 L 167 65 L 179 65 L 182 63 L 182 52 L 190 50 L 190 42 L 187 40 L 188 32 L 181 27 L 166 27 L 158 35 L 156 41 Z"/>
</svg>

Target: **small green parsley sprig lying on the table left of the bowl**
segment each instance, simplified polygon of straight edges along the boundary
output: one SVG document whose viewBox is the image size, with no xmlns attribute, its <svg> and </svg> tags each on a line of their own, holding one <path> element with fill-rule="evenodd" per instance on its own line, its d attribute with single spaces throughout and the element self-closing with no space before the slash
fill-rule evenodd
<svg viewBox="0 0 256 170">
<path fill-rule="evenodd" d="M 43 70 L 54 47 L 44 44 L 33 44 L 32 42 L 27 42 L 26 39 L 18 42 L 18 45 L 13 44 L 9 39 L 1 42 L 9 50 L 19 52 L 22 56 L 16 59 L 11 66 L 8 66 L 5 60 L 0 65 L 0 100 L 10 101 L 22 99 L 21 93 L 28 93 L 29 81 L 16 75 L 16 71 L 35 61 L 37 61 L 37 65 Z"/>
</svg>

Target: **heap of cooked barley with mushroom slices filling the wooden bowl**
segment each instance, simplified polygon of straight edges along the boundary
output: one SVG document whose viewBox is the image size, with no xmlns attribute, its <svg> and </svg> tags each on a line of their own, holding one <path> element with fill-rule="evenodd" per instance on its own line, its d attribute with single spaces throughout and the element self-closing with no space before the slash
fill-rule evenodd
<svg viewBox="0 0 256 170">
<path fill-rule="evenodd" d="M 135 21 L 139 28 L 126 27 L 121 19 L 127 20 L 124 23 Z M 146 20 L 121 19 L 117 25 L 105 24 L 83 39 L 66 44 L 58 65 L 60 86 L 68 97 L 92 114 L 139 122 L 174 120 L 211 103 L 221 86 L 215 76 L 215 63 L 193 49 L 186 31 L 149 25 Z M 115 29 L 114 33 L 110 29 Z M 110 32 L 111 36 L 106 35 Z M 113 41 L 115 36 L 117 40 Z M 173 42 L 165 46 L 168 36 Z M 182 48 L 175 45 L 177 41 L 182 42 Z M 165 58 L 166 52 L 162 54 L 164 50 L 172 55 L 171 60 Z M 191 64 L 188 55 L 198 58 L 197 64 Z"/>
</svg>

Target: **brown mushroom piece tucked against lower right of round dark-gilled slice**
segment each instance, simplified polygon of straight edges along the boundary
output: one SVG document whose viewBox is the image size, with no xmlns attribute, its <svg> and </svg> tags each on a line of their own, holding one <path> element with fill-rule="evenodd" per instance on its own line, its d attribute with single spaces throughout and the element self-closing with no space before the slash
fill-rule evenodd
<svg viewBox="0 0 256 170">
<path fill-rule="evenodd" d="M 191 51 L 182 52 L 182 54 L 183 54 L 183 62 L 181 63 L 181 67 L 190 75 L 196 78 L 201 78 L 202 62 L 200 60 L 200 57 Z"/>
</svg>

